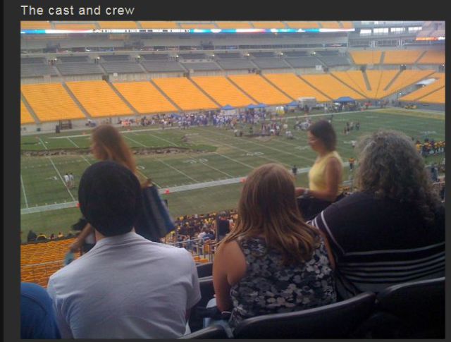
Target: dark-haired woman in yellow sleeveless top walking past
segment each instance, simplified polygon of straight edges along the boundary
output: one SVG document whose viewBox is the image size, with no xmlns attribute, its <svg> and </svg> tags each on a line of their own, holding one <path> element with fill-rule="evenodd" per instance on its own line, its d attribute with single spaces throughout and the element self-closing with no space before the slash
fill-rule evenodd
<svg viewBox="0 0 451 342">
<path fill-rule="evenodd" d="M 337 136 L 328 121 L 312 124 L 307 132 L 316 161 L 309 171 L 309 188 L 296 188 L 296 196 L 304 219 L 312 219 L 342 195 L 343 161 L 335 150 Z"/>
</svg>

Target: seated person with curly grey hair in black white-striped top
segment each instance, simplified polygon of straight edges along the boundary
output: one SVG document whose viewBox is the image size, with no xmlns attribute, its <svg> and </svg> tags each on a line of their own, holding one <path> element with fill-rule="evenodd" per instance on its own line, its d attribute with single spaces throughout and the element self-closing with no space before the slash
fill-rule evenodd
<svg viewBox="0 0 451 342">
<path fill-rule="evenodd" d="M 311 221 L 329 238 L 342 298 L 445 276 L 445 210 L 412 140 L 381 130 L 357 149 L 359 191 Z"/>
</svg>

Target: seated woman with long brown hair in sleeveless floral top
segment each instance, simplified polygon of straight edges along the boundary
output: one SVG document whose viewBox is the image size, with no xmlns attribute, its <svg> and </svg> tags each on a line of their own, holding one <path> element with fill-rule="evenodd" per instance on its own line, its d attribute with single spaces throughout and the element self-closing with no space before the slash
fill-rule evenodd
<svg viewBox="0 0 451 342">
<path fill-rule="evenodd" d="M 237 225 L 214 259 L 218 310 L 231 311 L 235 327 L 249 317 L 335 302 L 326 244 L 299 213 L 292 174 L 278 164 L 255 169 L 242 190 Z"/>
</svg>

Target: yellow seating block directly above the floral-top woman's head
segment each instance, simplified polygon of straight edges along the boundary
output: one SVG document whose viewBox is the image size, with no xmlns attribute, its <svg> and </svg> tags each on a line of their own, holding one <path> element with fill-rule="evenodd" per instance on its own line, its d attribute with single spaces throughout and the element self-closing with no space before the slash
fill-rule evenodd
<svg viewBox="0 0 451 342">
<path fill-rule="evenodd" d="M 229 75 L 228 78 L 259 103 L 274 105 L 292 102 L 292 99 L 286 97 L 259 75 Z"/>
</svg>

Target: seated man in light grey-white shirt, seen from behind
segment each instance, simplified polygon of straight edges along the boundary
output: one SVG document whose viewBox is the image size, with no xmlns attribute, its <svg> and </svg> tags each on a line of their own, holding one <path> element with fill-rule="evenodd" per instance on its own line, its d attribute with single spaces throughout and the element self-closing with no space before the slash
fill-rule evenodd
<svg viewBox="0 0 451 342">
<path fill-rule="evenodd" d="M 49 279 L 62 338 L 177 338 L 200 299 L 197 270 L 185 249 L 135 233 L 142 205 L 136 176 L 113 162 L 89 166 L 80 210 L 97 243 Z"/>
</svg>

